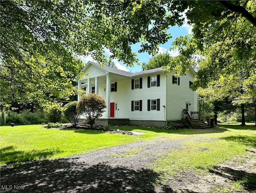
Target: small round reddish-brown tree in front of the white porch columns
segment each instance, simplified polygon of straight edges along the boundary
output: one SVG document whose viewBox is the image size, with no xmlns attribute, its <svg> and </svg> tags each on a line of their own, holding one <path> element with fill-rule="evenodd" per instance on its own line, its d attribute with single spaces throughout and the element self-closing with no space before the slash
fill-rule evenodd
<svg viewBox="0 0 256 193">
<path fill-rule="evenodd" d="M 76 106 L 78 113 L 85 113 L 90 119 L 91 129 L 94 124 L 94 120 L 102 116 L 105 112 L 106 102 L 103 97 L 96 93 L 87 93 L 82 95 Z"/>
</svg>

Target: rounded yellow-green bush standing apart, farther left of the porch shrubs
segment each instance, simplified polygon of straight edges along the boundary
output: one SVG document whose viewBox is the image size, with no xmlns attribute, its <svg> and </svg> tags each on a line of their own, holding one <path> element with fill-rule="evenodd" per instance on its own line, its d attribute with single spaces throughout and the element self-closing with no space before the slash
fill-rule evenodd
<svg viewBox="0 0 256 193">
<path fill-rule="evenodd" d="M 49 103 L 44 109 L 44 112 L 48 122 L 60 122 L 62 118 L 62 104 Z"/>
</svg>

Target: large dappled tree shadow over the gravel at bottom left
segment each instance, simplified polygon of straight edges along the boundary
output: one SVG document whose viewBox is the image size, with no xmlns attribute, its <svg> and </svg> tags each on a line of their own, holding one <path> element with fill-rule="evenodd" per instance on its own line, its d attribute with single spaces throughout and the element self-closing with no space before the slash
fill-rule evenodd
<svg viewBox="0 0 256 193">
<path fill-rule="evenodd" d="M 159 174 L 151 169 L 113 167 L 107 163 L 87 165 L 76 159 L 48 160 L 1 171 L 2 185 L 25 186 L 11 192 L 156 192 Z M 3 189 L 1 192 L 8 192 Z M 164 191 L 165 192 L 165 191 Z M 166 187 L 166 192 L 174 192 Z"/>
</svg>

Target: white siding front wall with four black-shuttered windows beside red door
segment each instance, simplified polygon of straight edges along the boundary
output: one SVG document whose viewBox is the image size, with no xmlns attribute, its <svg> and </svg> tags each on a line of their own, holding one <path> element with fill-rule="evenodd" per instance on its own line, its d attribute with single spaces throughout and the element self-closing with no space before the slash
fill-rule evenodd
<svg viewBox="0 0 256 193">
<path fill-rule="evenodd" d="M 151 76 L 156 76 L 151 75 Z M 130 120 L 165 120 L 165 85 L 166 76 L 164 73 L 160 74 L 160 87 L 150 87 L 148 88 L 148 76 L 142 77 L 142 89 L 132 90 L 132 79 L 131 78 L 123 81 L 117 82 L 117 92 L 110 93 L 110 102 L 117 103 L 117 117 L 116 118 L 129 118 Z M 111 82 L 112 83 L 112 82 Z M 105 98 L 106 94 L 101 91 L 104 87 L 99 85 L 99 95 Z M 105 95 L 104 95 L 105 94 Z M 160 110 L 150 110 L 148 111 L 148 99 L 160 99 Z M 131 110 L 132 100 L 142 100 L 142 111 Z M 102 116 L 105 117 L 105 114 Z"/>
</svg>

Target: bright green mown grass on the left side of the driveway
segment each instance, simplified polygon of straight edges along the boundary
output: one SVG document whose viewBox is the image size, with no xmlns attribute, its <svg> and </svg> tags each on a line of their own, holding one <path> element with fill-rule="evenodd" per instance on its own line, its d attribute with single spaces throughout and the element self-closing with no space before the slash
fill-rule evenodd
<svg viewBox="0 0 256 193">
<path fill-rule="evenodd" d="M 95 130 L 47 129 L 42 125 L 1 126 L 0 164 L 63 158 L 168 135 L 168 131 L 139 126 L 121 127 L 145 132 L 140 136 L 109 134 Z M 114 127 L 118 129 L 118 127 Z"/>
</svg>

